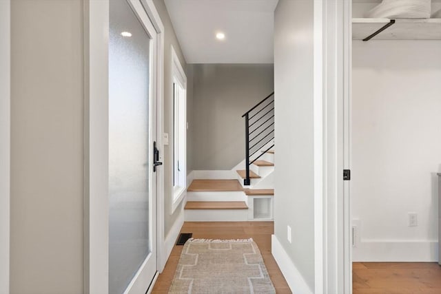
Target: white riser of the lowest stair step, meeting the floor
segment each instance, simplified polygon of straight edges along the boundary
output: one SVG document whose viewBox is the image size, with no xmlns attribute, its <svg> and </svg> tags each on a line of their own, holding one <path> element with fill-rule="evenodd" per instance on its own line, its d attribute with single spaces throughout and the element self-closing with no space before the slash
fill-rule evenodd
<svg viewBox="0 0 441 294">
<path fill-rule="evenodd" d="M 245 222 L 248 209 L 185 209 L 186 222 Z"/>
</svg>

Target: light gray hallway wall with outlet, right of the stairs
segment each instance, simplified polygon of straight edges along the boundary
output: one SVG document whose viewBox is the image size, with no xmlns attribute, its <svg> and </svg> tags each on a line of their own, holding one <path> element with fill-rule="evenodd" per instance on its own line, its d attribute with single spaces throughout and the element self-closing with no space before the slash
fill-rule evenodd
<svg viewBox="0 0 441 294">
<path fill-rule="evenodd" d="M 314 1 L 280 0 L 274 18 L 274 233 L 314 292 Z"/>
</svg>

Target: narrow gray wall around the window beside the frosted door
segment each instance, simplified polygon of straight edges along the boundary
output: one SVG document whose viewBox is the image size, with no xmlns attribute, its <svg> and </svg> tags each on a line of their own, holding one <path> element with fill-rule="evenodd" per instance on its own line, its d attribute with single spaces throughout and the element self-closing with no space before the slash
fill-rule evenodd
<svg viewBox="0 0 441 294">
<path fill-rule="evenodd" d="M 184 70 L 187 67 L 185 58 L 182 54 L 181 47 L 179 46 L 178 39 L 174 33 L 172 21 L 165 7 L 164 0 L 153 1 L 156 10 L 158 10 L 159 17 L 164 25 L 164 132 L 169 134 L 170 144 L 164 147 L 164 217 L 165 228 L 164 233 L 167 233 L 172 228 L 174 222 L 181 213 L 183 207 L 182 204 L 176 208 L 173 214 L 172 210 L 172 193 L 173 193 L 173 125 L 171 122 L 173 118 L 173 77 L 172 77 L 172 45 L 174 51 L 178 55 L 179 61 Z"/>
</svg>

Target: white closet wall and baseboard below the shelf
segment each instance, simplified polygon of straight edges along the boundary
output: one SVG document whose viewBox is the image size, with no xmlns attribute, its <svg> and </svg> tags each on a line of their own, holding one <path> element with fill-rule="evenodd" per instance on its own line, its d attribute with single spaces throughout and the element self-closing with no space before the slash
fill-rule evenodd
<svg viewBox="0 0 441 294">
<path fill-rule="evenodd" d="M 441 41 L 353 41 L 354 261 L 438 260 L 440 53 Z"/>
</svg>

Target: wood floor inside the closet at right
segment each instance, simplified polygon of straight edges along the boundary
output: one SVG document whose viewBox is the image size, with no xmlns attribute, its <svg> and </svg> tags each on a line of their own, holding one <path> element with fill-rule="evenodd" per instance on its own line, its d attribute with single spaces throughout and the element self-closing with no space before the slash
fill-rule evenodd
<svg viewBox="0 0 441 294">
<path fill-rule="evenodd" d="M 353 294 L 441 294 L 436 262 L 354 262 Z"/>
</svg>

